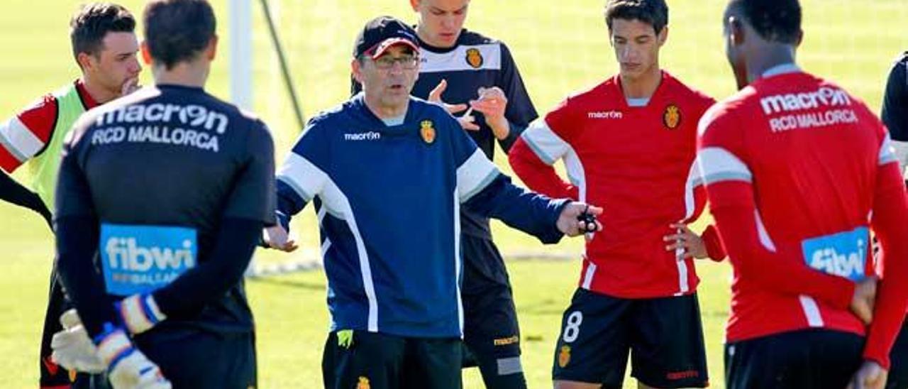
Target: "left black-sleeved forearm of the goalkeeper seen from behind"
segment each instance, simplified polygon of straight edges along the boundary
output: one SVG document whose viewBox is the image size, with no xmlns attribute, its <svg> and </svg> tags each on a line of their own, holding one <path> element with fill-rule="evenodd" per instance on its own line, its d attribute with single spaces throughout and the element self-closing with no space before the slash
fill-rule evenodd
<svg viewBox="0 0 908 389">
<path fill-rule="evenodd" d="M 56 220 L 57 272 L 66 293 L 82 318 L 86 332 L 94 338 L 104 324 L 116 324 L 119 316 L 113 299 L 105 293 L 104 279 L 94 267 L 98 224 L 93 217 L 69 216 Z"/>
</svg>

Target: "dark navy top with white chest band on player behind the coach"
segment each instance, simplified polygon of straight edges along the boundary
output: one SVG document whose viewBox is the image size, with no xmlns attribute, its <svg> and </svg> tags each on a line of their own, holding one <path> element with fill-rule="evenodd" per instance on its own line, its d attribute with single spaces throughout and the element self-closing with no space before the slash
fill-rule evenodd
<svg viewBox="0 0 908 389">
<path fill-rule="evenodd" d="M 441 100 L 452 105 L 469 105 L 470 100 L 479 98 L 477 91 L 480 87 L 498 86 L 504 91 L 508 97 L 505 118 L 510 124 L 510 135 L 498 141 L 498 145 L 505 153 L 529 123 L 538 117 L 517 64 L 503 42 L 463 29 L 453 47 L 433 47 L 421 40 L 419 46 L 419 79 L 413 86 L 412 95 L 429 98 L 429 92 L 441 80 L 448 80 L 448 88 L 441 95 Z M 355 81 L 353 91 L 360 91 L 360 85 Z M 468 131 L 467 134 L 491 160 L 495 155 L 495 135 L 482 114 L 474 111 L 471 115 L 475 117 L 474 123 L 479 125 L 479 131 Z M 491 239 L 489 218 L 464 211 L 460 223 L 463 234 Z"/>
</svg>

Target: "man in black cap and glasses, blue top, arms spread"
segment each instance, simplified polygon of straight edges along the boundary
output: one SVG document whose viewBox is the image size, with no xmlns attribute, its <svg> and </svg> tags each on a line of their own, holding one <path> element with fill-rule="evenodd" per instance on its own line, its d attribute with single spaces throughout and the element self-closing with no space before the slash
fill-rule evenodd
<svg viewBox="0 0 908 389">
<path fill-rule="evenodd" d="M 268 243 L 292 250 L 289 218 L 315 204 L 331 311 L 326 387 L 459 388 L 460 206 L 544 243 L 596 230 L 578 216 L 602 210 L 512 185 L 457 119 L 411 97 L 410 26 L 371 20 L 351 67 L 362 93 L 311 119 L 293 146 Z"/>
</svg>

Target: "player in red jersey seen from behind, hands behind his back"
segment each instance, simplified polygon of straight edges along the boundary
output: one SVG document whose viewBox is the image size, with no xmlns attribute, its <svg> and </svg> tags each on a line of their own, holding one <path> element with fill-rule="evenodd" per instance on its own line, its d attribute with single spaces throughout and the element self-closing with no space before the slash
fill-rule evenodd
<svg viewBox="0 0 908 389">
<path fill-rule="evenodd" d="M 741 90 L 704 115 L 697 159 L 734 268 L 726 385 L 881 388 L 908 298 L 908 204 L 889 135 L 795 65 L 797 0 L 732 0 L 724 24 Z"/>
</svg>

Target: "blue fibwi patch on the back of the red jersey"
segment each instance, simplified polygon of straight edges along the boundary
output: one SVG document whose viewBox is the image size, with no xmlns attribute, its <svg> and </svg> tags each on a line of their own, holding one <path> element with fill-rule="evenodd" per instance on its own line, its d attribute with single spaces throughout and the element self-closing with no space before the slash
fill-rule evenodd
<svg viewBox="0 0 908 389">
<path fill-rule="evenodd" d="M 804 240 L 801 243 L 804 262 L 825 274 L 861 281 L 865 276 L 869 236 L 867 227 L 858 227 Z"/>
</svg>

